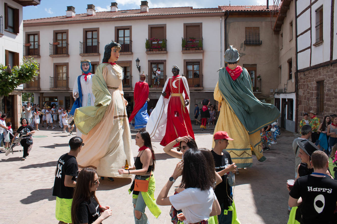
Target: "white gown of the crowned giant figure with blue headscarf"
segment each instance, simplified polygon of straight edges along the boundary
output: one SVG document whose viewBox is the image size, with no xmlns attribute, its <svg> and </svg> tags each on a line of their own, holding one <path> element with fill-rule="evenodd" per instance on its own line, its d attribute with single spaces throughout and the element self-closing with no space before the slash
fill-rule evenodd
<svg viewBox="0 0 337 224">
<path fill-rule="evenodd" d="M 92 77 L 94 74 L 87 75 L 87 81 L 84 80 L 84 75 L 81 75 L 80 82 L 82 87 L 82 106 L 93 106 L 95 103 L 95 97 L 92 93 Z M 77 79 L 75 80 L 74 87 L 72 88 L 72 94 L 79 92 L 79 85 Z"/>
</svg>

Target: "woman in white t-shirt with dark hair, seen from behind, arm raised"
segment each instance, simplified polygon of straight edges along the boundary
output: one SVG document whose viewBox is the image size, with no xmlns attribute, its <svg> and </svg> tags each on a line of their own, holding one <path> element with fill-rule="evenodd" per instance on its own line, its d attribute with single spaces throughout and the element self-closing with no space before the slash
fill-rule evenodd
<svg viewBox="0 0 337 224">
<path fill-rule="evenodd" d="M 209 157 L 211 158 L 211 157 Z M 204 153 L 196 148 L 190 148 L 184 153 L 183 161 L 179 162 L 172 176 L 160 191 L 157 204 L 172 205 L 181 209 L 179 219 L 184 223 L 207 224 L 210 216 L 217 215 L 220 205 L 214 194 L 215 169 L 205 163 Z M 213 162 L 214 163 L 214 162 Z M 179 194 L 167 197 L 174 181 L 182 175 L 179 187 L 185 188 Z"/>
</svg>

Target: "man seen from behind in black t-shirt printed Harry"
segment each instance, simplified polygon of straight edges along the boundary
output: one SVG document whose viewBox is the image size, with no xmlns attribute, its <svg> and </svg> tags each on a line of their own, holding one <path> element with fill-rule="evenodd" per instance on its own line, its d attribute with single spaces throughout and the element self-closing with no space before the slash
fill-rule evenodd
<svg viewBox="0 0 337 224">
<path fill-rule="evenodd" d="M 328 156 L 323 151 L 314 151 L 310 163 L 314 172 L 296 180 L 289 192 L 288 204 L 298 206 L 301 224 L 336 223 L 337 181 L 325 174 Z"/>
</svg>

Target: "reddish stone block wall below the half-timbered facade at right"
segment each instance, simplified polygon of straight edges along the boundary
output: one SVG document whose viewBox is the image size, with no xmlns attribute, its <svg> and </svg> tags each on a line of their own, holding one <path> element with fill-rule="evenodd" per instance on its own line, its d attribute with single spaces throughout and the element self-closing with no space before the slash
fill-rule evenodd
<svg viewBox="0 0 337 224">
<path fill-rule="evenodd" d="M 337 63 L 298 73 L 298 127 L 303 113 L 317 111 L 317 82 L 324 80 L 324 114 L 337 114 Z M 299 128 L 298 128 L 299 130 Z"/>
</svg>

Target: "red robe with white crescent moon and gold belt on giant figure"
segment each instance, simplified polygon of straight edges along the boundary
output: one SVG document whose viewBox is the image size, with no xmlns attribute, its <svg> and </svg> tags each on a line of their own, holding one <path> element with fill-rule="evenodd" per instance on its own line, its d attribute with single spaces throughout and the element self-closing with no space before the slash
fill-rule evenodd
<svg viewBox="0 0 337 224">
<path fill-rule="evenodd" d="M 166 133 L 160 142 L 160 145 L 162 146 L 166 146 L 176 138 L 186 135 L 189 135 L 194 139 L 191 119 L 187 107 L 185 106 L 185 100 L 189 99 L 188 94 L 184 88 L 182 79 L 177 77 L 179 77 L 179 75 L 169 79 L 165 89 L 165 98 L 168 99 L 171 95 L 171 99 L 168 102 L 167 107 Z M 182 96 L 183 92 L 185 93 L 185 99 Z M 177 145 L 178 144 L 175 146 Z"/>
</svg>

